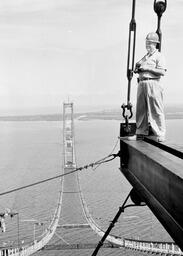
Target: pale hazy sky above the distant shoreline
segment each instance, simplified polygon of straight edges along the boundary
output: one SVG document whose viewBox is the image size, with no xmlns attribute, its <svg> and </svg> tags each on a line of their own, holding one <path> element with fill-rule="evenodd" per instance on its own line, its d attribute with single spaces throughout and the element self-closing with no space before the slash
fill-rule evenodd
<svg viewBox="0 0 183 256">
<path fill-rule="evenodd" d="M 153 0 L 137 0 L 136 56 L 156 31 Z M 164 102 L 182 103 L 183 1 L 167 0 L 161 29 Z M 127 94 L 130 0 L 0 0 L 0 115 L 120 108 Z M 136 104 L 136 75 L 131 102 Z"/>
</svg>

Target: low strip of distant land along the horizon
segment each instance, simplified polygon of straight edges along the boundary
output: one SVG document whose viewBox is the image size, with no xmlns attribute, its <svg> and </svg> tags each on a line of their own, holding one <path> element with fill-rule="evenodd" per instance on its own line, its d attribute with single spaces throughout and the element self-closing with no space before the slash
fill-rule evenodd
<svg viewBox="0 0 183 256">
<path fill-rule="evenodd" d="M 135 110 L 133 109 L 133 117 Z M 128 113 L 128 112 L 127 112 Z M 165 107 L 166 119 L 183 119 L 183 105 L 172 105 Z M 75 113 L 77 120 L 122 120 L 122 109 L 105 109 L 103 111 L 94 111 L 86 113 Z M 0 121 L 62 121 L 61 114 L 40 114 L 40 115 L 21 115 L 21 116 L 0 116 Z"/>
</svg>

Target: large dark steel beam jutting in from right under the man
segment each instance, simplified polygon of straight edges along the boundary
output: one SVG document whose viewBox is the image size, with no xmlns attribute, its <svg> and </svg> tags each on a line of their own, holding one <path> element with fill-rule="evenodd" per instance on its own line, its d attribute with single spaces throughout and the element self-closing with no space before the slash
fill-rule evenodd
<svg viewBox="0 0 183 256">
<path fill-rule="evenodd" d="M 183 161 L 145 141 L 120 139 L 121 171 L 183 250 Z"/>
</svg>

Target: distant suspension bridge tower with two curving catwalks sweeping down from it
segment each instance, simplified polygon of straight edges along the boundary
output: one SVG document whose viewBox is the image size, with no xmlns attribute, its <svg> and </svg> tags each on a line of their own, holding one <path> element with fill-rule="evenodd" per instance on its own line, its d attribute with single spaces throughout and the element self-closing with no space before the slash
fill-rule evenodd
<svg viewBox="0 0 183 256">
<path fill-rule="evenodd" d="M 106 230 L 102 230 L 96 224 L 87 208 L 78 171 L 75 171 L 84 167 L 76 167 L 73 104 L 64 103 L 63 106 L 63 176 L 60 178 L 55 214 L 41 239 L 35 236 L 30 244 L 16 248 L 1 248 L 1 255 L 52 255 L 53 251 L 59 255 L 96 255 L 92 253 L 101 243 L 101 237 L 106 235 Z M 102 255 L 183 255 L 175 243 L 143 241 L 110 234 L 101 245 Z"/>
</svg>

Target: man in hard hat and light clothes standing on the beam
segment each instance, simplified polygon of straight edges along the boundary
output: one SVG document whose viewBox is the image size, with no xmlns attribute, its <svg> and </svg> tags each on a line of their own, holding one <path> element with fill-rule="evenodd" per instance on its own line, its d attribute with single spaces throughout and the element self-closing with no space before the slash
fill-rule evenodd
<svg viewBox="0 0 183 256">
<path fill-rule="evenodd" d="M 139 74 L 136 105 L 137 139 L 149 136 L 161 142 L 165 140 L 165 115 L 161 77 L 165 75 L 165 61 L 157 49 L 159 37 L 151 32 L 146 37 L 147 54 L 136 63 Z"/>
</svg>

